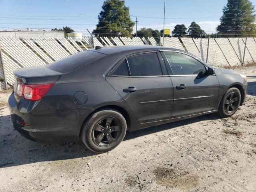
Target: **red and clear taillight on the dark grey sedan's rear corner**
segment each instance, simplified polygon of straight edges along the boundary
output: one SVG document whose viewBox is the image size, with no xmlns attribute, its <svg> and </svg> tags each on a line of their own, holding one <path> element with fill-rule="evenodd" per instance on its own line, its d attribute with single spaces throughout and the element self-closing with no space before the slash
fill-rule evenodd
<svg viewBox="0 0 256 192">
<path fill-rule="evenodd" d="M 19 96 L 24 95 L 24 99 L 26 100 L 37 101 L 42 99 L 52 86 L 53 84 L 36 84 L 36 85 L 18 84 L 17 94 Z M 21 95 L 18 93 L 18 88 L 22 88 Z"/>
</svg>

